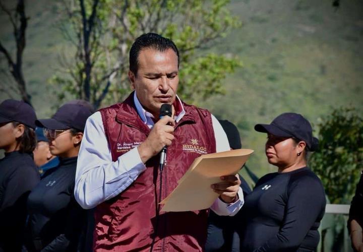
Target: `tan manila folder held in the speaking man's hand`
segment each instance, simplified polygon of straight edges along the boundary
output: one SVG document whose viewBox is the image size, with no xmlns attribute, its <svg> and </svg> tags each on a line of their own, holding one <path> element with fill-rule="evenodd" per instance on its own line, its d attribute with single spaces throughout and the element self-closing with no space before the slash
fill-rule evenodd
<svg viewBox="0 0 363 252">
<path fill-rule="evenodd" d="M 210 208 L 218 198 L 211 184 L 221 182 L 220 176 L 235 175 L 253 152 L 237 149 L 196 158 L 174 191 L 160 202 L 164 205 L 161 211 L 183 212 Z"/>
</svg>

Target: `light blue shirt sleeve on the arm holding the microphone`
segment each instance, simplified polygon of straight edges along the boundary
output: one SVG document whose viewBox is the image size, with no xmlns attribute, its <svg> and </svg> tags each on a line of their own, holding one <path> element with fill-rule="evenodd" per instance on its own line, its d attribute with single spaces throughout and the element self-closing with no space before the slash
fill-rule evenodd
<svg viewBox="0 0 363 252">
<path fill-rule="evenodd" d="M 137 148 L 112 161 L 100 112 L 91 115 L 77 161 L 75 199 L 90 209 L 123 192 L 146 169 Z"/>
</svg>

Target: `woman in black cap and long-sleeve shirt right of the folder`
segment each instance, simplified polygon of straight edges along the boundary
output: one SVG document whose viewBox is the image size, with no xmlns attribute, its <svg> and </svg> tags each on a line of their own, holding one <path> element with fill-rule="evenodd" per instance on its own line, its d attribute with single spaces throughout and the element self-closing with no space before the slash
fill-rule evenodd
<svg viewBox="0 0 363 252">
<path fill-rule="evenodd" d="M 315 251 L 326 201 L 320 179 L 307 167 L 307 153 L 317 149 L 318 139 L 296 113 L 255 130 L 267 133 L 267 160 L 278 172 L 260 178 L 245 198 L 241 251 Z"/>
</svg>

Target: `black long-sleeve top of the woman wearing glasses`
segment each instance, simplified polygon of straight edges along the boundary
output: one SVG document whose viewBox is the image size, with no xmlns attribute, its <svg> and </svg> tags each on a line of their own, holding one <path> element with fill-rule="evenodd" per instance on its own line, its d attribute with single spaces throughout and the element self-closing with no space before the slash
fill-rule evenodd
<svg viewBox="0 0 363 252">
<path fill-rule="evenodd" d="M 85 211 L 74 199 L 77 157 L 61 159 L 28 198 L 28 250 L 76 251 Z"/>
</svg>

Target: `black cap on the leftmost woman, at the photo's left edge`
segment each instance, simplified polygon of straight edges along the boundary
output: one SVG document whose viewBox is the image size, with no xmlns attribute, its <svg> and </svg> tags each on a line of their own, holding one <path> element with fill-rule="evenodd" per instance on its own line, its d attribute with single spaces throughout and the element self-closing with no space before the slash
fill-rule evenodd
<svg viewBox="0 0 363 252">
<path fill-rule="evenodd" d="M 36 119 L 35 111 L 28 103 L 8 99 L 0 104 L 0 123 L 18 121 L 35 129 Z"/>
</svg>

